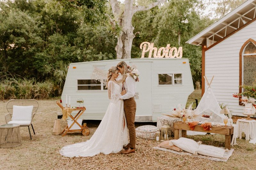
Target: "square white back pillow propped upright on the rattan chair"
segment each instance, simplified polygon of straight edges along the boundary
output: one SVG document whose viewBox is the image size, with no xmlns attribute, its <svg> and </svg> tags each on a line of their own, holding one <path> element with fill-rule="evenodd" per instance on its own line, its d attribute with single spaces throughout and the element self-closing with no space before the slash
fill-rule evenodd
<svg viewBox="0 0 256 170">
<path fill-rule="evenodd" d="M 13 105 L 12 121 L 31 120 L 33 106 Z"/>
</svg>

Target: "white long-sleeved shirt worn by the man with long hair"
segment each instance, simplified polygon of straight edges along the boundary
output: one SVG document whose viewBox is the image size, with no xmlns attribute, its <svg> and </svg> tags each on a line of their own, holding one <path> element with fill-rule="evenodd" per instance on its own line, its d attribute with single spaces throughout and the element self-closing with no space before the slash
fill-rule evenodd
<svg viewBox="0 0 256 170">
<path fill-rule="evenodd" d="M 130 99 L 135 95 L 135 90 L 136 90 L 136 82 L 132 76 L 127 76 L 125 79 L 125 90 L 126 94 L 122 95 L 120 99 Z"/>
</svg>

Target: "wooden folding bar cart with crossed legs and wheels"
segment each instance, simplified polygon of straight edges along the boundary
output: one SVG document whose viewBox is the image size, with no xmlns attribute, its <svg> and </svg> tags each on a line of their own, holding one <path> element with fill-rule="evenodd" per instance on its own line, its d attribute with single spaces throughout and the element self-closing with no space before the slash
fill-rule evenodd
<svg viewBox="0 0 256 170">
<path fill-rule="evenodd" d="M 57 105 L 63 110 L 64 109 L 64 107 L 57 101 Z M 71 111 L 71 112 L 73 112 L 73 111 L 79 111 L 76 115 L 75 115 L 75 117 L 73 117 L 71 114 L 70 114 L 70 118 L 74 121 L 69 127 L 68 127 L 68 125 L 62 130 L 62 132 L 60 133 L 60 134 L 62 134 L 62 136 L 65 136 L 68 132 L 77 132 L 77 131 L 81 131 L 82 132 L 82 134 L 84 135 L 84 136 L 86 136 L 86 134 L 88 135 L 88 133 L 86 133 L 87 131 L 86 131 L 86 129 L 88 129 L 87 127 L 86 127 L 86 125 L 84 126 L 81 126 L 78 122 L 77 122 L 77 120 L 79 119 L 79 117 L 84 113 L 84 111 L 86 110 L 86 108 L 85 107 L 83 107 L 83 108 L 69 108 L 69 112 Z M 74 129 L 74 130 L 69 130 L 74 124 L 77 124 L 81 129 Z"/>
</svg>

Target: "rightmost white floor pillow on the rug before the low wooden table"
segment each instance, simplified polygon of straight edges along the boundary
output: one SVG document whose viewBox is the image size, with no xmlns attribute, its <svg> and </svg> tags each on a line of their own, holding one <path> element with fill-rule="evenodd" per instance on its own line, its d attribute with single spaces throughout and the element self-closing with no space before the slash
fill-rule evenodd
<svg viewBox="0 0 256 170">
<path fill-rule="evenodd" d="M 223 158 L 225 150 L 211 145 L 200 144 L 197 153 L 216 158 Z"/>
</svg>

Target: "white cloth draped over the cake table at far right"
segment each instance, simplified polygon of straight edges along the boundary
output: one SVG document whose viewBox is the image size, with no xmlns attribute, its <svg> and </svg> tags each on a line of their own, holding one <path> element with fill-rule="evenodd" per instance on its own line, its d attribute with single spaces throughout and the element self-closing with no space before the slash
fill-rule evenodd
<svg viewBox="0 0 256 170">
<path fill-rule="evenodd" d="M 236 138 L 239 137 L 240 122 L 248 122 L 249 123 L 249 130 L 250 130 L 249 143 L 256 144 L 256 121 L 255 120 L 238 119 L 236 121 L 237 130 L 236 130 L 236 132 L 234 131 L 234 136 Z"/>
</svg>

